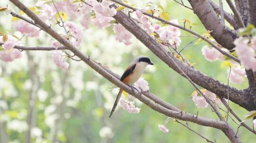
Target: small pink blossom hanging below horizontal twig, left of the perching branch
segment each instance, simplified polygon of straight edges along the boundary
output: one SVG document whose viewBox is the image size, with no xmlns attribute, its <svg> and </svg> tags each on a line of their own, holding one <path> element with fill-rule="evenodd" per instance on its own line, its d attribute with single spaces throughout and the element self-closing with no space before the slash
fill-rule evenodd
<svg viewBox="0 0 256 143">
<path fill-rule="evenodd" d="M 62 69 L 68 70 L 69 64 L 67 62 L 64 62 L 65 53 L 61 51 L 56 51 L 52 54 L 52 60 L 53 62 L 59 66 Z"/>
</svg>

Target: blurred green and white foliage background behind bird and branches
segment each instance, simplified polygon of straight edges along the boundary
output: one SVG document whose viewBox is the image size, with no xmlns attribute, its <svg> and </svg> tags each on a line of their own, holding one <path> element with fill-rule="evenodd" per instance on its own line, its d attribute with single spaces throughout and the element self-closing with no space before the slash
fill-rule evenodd
<svg viewBox="0 0 256 143">
<path fill-rule="evenodd" d="M 27 6 L 33 6 L 37 0 L 21 0 Z M 146 0 L 129 0 L 139 8 L 145 6 Z M 165 11 L 171 12 L 171 19 L 188 19 L 192 30 L 206 33 L 205 28 L 193 12 L 180 6 L 173 0 L 153 0 Z M 186 0 L 183 0 L 189 6 Z M 215 0 L 218 2 L 218 0 Z M 8 0 L 1 0 L 0 6 L 15 8 Z M 224 2 L 224 9 L 230 12 Z M 78 20 L 75 22 L 79 23 Z M 60 27 L 52 25 L 60 31 Z M 0 13 L 0 32 L 14 32 L 11 16 Z M 18 36 L 19 33 L 16 33 Z M 182 32 L 179 50 L 195 40 L 191 34 Z M 39 38 L 24 37 L 23 45 L 50 46 L 52 39 L 45 33 Z M 190 44 L 182 54 L 190 63 L 195 63 L 197 70 L 227 83 L 228 67 L 221 67 L 222 62 L 209 62 L 202 56 L 201 48 L 205 42 Z M 84 42 L 79 49 L 96 61 L 108 66 L 113 72 L 122 74 L 126 66 L 137 56 L 149 56 L 154 67 L 148 67 L 143 75 L 149 83 L 150 92 L 180 109 L 217 119 L 210 107 L 198 109 L 190 96 L 194 87 L 179 74 L 160 61 L 145 48 L 135 37 L 133 44 L 125 46 L 114 38 L 112 26 L 100 30 L 92 26 L 84 31 Z M 95 73 L 83 62 L 68 60 L 70 67 L 64 71 L 53 64 L 51 51 L 23 52 L 21 59 L 11 63 L 0 61 L 0 137 L 1 142 L 25 143 L 27 123 L 32 126 L 33 143 L 205 143 L 206 141 L 178 123 L 166 124 L 169 133 L 162 133 L 157 127 L 164 124 L 166 116 L 153 111 L 140 102 L 138 114 L 129 114 L 120 108 L 108 118 L 118 89 L 110 89 L 112 84 Z M 231 86 L 239 89 L 247 87 L 247 80 L 242 84 Z M 7 103 L 7 104 L 5 104 Z M 234 103 L 231 108 L 239 117 L 247 113 Z M 223 108 L 223 107 L 222 107 Z M 225 115 L 224 112 L 222 112 Z M 31 119 L 31 121 L 28 121 Z M 237 129 L 238 125 L 230 120 Z M 186 123 L 186 122 L 184 122 Z M 252 126 L 252 121 L 246 123 Z M 228 143 L 227 137 L 210 127 L 188 123 L 189 127 L 217 143 Z M 243 127 L 238 135 L 244 143 L 255 143 L 255 135 Z"/>
</svg>

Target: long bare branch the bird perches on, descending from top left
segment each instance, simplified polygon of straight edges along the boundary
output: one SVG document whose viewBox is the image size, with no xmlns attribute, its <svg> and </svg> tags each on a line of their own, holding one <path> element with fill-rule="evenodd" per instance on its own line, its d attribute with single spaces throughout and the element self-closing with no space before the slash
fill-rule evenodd
<svg viewBox="0 0 256 143">
<path fill-rule="evenodd" d="M 117 85 L 118 87 L 124 89 L 129 94 L 135 96 L 137 99 L 139 99 L 140 101 L 142 101 L 143 103 L 148 105 L 153 110 L 158 111 L 158 112 L 160 112 L 166 116 L 172 117 L 172 118 L 191 121 L 194 123 L 198 123 L 199 125 L 203 125 L 203 126 L 215 127 L 215 128 L 221 129 L 221 130 L 226 130 L 227 128 L 231 129 L 231 127 L 224 121 L 196 117 L 196 116 L 184 113 L 184 112 L 171 111 L 169 109 L 162 107 L 159 104 L 152 102 L 149 98 L 145 97 L 144 95 L 139 93 L 137 90 L 134 90 L 133 87 L 130 87 L 130 86 L 124 84 L 119 79 L 117 79 L 113 75 L 111 75 L 109 72 L 105 71 L 99 64 L 95 63 L 94 60 L 91 60 L 88 56 L 83 55 L 76 47 L 74 47 L 70 42 L 68 42 L 63 37 L 61 37 L 54 30 L 52 30 L 50 26 L 45 24 L 38 16 L 36 16 L 31 10 L 29 10 L 20 1 L 18 1 L 18 0 L 10 0 L 10 1 L 12 3 L 14 3 L 22 11 L 24 11 L 37 24 L 39 24 L 45 32 L 47 32 L 54 39 L 58 40 L 61 44 L 66 46 L 70 51 L 72 51 L 76 56 L 78 56 L 80 59 L 82 59 L 86 64 L 88 64 L 96 72 L 100 73 L 104 78 L 108 79 L 113 84 Z"/>
</svg>

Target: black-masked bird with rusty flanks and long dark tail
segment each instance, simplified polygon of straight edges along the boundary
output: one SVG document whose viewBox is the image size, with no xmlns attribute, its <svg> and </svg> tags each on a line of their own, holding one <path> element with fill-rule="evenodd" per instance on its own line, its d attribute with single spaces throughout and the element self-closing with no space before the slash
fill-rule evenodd
<svg viewBox="0 0 256 143">
<path fill-rule="evenodd" d="M 138 56 L 135 58 L 131 64 L 128 65 L 125 72 L 121 76 L 121 81 L 129 86 L 132 86 L 142 75 L 147 65 L 154 65 L 147 56 Z M 111 110 L 110 116 L 114 113 L 119 99 L 122 95 L 123 89 L 119 89 L 119 93 L 117 95 L 116 101 Z"/>
</svg>

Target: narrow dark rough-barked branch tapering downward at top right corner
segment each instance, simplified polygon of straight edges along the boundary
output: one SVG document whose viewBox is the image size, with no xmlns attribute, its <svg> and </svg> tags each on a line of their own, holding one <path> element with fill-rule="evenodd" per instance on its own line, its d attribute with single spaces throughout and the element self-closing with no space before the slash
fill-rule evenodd
<svg viewBox="0 0 256 143">
<path fill-rule="evenodd" d="M 239 14 L 243 20 L 244 25 L 247 26 L 247 24 L 249 22 L 247 0 L 235 0 L 235 5 L 236 5 L 237 10 L 239 11 Z"/>
</svg>

